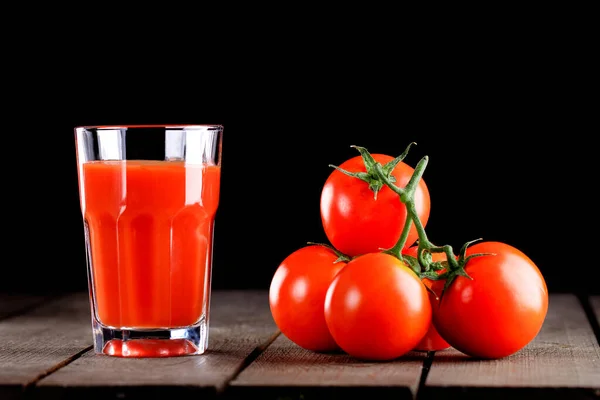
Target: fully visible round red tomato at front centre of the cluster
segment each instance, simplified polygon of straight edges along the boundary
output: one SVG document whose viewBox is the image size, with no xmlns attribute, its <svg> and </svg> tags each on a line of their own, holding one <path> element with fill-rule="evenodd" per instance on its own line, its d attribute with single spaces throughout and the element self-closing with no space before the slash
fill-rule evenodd
<svg viewBox="0 0 600 400">
<path fill-rule="evenodd" d="M 368 253 L 333 279 L 325 321 L 336 343 L 362 360 L 385 361 L 412 350 L 431 323 L 425 286 L 398 258 Z"/>
</svg>

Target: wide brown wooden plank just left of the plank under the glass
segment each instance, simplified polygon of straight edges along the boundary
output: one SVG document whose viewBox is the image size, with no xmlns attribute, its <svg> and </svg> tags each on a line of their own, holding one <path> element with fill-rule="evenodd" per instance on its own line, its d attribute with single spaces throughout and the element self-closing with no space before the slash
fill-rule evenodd
<svg viewBox="0 0 600 400">
<path fill-rule="evenodd" d="M 87 295 L 47 302 L 0 323 L 0 398 L 18 398 L 40 377 L 92 345 Z"/>
</svg>

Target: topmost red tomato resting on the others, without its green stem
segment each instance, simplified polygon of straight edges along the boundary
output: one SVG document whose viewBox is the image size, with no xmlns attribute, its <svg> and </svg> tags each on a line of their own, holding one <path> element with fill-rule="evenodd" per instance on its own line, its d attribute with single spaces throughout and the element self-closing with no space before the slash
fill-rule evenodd
<svg viewBox="0 0 600 400">
<path fill-rule="evenodd" d="M 394 159 L 384 154 L 371 155 L 382 165 Z M 361 156 L 345 161 L 339 168 L 349 172 L 366 171 Z M 396 179 L 394 184 L 404 188 L 413 172 L 408 164 L 398 163 L 392 172 Z M 425 226 L 429 219 L 430 196 L 423 179 L 415 190 L 414 202 L 419 220 Z M 407 217 L 405 205 L 389 187 L 384 185 L 375 199 L 365 181 L 337 169 L 329 175 L 321 191 L 320 212 L 329 242 L 351 257 L 393 247 Z M 414 244 L 417 238 L 413 224 L 405 248 Z"/>
</svg>

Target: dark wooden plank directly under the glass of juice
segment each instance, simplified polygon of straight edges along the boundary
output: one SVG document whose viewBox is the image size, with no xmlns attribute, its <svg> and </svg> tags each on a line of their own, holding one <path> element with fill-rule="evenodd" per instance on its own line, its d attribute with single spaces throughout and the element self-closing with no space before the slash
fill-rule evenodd
<svg viewBox="0 0 600 400">
<path fill-rule="evenodd" d="M 92 352 L 42 379 L 43 398 L 214 396 L 277 331 L 264 291 L 215 291 L 204 355 L 121 359 Z"/>
</svg>

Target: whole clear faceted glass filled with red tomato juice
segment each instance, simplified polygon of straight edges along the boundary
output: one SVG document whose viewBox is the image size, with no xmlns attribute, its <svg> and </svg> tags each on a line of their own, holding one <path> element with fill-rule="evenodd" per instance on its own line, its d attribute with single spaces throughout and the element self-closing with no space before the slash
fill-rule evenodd
<svg viewBox="0 0 600 400">
<path fill-rule="evenodd" d="M 222 125 L 75 128 L 94 351 L 208 346 Z"/>
</svg>

